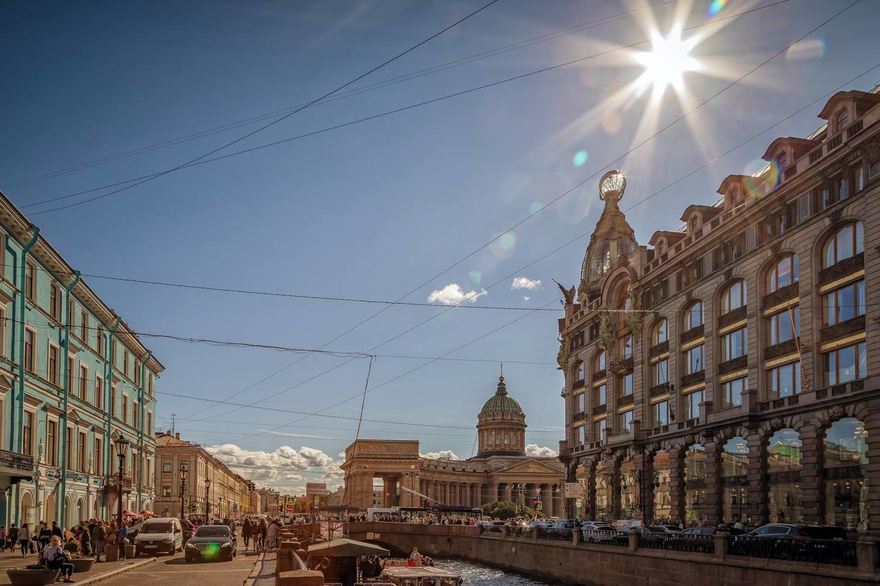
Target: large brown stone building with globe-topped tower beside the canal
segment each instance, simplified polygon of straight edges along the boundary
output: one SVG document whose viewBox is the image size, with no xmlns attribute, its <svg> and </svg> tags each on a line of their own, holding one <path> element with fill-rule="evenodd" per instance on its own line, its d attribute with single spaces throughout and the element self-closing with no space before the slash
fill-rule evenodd
<svg viewBox="0 0 880 586">
<path fill-rule="evenodd" d="M 880 533 L 880 95 L 837 93 L 819 117 L 649 246 L 622 174 L 600 182 L 559 320 L 582 517 Z"/>
</svg>

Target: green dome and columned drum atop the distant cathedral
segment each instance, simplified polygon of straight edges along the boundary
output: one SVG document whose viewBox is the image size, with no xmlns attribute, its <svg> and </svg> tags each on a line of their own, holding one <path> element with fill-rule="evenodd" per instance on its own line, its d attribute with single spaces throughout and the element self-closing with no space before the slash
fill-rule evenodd
<svg viewBox="0 0 880 586">
<path fill-rule="evenodd" d="M 486 401 L 477 418 L 480 435 L 477 458 L 525 455 L 526 414 L 516 399 L 507 394 L 503 376 L 498 378 L 495 394 Z"/>
</svg>

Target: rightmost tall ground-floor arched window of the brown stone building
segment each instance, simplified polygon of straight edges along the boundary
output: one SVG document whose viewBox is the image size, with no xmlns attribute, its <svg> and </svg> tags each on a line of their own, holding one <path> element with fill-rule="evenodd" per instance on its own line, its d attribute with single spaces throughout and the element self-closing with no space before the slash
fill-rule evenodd
<svg viewBox="0 0 880 586">
<path fill-rule="evenodd" d="M 854 417 L 825 432 L 822 458 L 825 522 L 850 531 L 868 530 L 868 432 Z"/>
</svg>

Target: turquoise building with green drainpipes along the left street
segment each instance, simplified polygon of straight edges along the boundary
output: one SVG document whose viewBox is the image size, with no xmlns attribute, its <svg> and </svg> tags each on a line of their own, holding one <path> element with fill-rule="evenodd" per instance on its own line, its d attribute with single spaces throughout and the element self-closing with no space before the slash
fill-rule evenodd
<svg viewBox="0 0 880 586">
<path fill-rule="evenodd" d="M 106 519 L 120 484 L 123 507 L 151 510 L 163 370 L 0 192 L 0 522 Z"/>
</svg>

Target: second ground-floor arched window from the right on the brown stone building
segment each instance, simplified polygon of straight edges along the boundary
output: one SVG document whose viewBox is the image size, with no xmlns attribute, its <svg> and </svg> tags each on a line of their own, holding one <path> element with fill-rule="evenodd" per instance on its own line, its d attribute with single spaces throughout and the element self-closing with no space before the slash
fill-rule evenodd
<svg viewBox="0 0 880 586">
<path fill-rule="evenodd" d="M 801 442 L 798 432 L 781 429 L 767 442 L 767 492 L 770 521 L 800 523 L 804 520 L 801 499 Z"/>
</svg>

